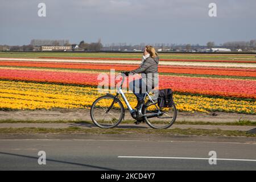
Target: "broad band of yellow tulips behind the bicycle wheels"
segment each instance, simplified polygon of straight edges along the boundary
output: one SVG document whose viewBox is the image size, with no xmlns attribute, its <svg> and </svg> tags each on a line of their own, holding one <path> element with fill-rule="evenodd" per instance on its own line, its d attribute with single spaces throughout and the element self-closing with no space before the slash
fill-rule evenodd
<svg viewBox="0 0 256 182">
<path fill-rule="evenodd" d="M 96 98 L 104 95 L 97 88 L 39 84 L 22 81 L 0 81 L 0 109 L 89 109 Z M 133 94 L 127 94 L 132 107 L 137 104 Z M 201 96 L 174 94 L 179 111 L 226 111 L 256 114 L 256 102 L 225 100 Z"/>
</svg>

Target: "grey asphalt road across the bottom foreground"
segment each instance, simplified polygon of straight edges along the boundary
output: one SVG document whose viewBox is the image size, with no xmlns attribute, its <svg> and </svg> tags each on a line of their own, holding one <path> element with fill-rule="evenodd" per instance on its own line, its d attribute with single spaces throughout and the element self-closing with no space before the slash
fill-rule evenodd
<svg viewBox="0 0 256 182">
<path fill-rule="evenodd" d="M 209 164 L 209 151 L 217 164 Z M 0 170 L 256 170 L 255 154 L 256 143 L 1 139 Z"/>
</svg>

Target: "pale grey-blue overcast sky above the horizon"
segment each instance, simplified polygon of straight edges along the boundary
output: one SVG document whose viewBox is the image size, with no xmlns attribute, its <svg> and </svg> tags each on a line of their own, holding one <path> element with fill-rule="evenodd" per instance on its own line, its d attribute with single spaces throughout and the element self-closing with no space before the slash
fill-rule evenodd
<svg viewBox="0 0 256 182">
<path fill-rule="evenodd" d="M 46 3 L 46 17 L 38 4 Z M 217 4 L 210 18 L 208 5 Z M 191 43 L 256 39 L 255 0 L 0 0 L 0 44 Z"/>
</svg>

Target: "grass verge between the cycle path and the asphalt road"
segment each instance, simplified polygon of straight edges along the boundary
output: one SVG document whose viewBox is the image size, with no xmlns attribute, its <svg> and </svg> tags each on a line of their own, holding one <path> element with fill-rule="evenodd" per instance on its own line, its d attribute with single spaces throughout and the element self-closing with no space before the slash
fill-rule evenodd
<svg viewBox="0 0 256 182">
<path fill-rule="evenodd" d="M 205 129 L 81 129 L 80 127 L 69 127 L 65 129 L 46 129 L 35 127 L 3 128 L 0 134 L 34 134 L 34 133 L 75 133 L 75 134 L 158 134 L 158 135 L 199 135 L 199 136 L 224 136 L 224 137 L 256 137 L 256 134 L 247 134 L 246 131 L 224 131 Z"/>
</svg>

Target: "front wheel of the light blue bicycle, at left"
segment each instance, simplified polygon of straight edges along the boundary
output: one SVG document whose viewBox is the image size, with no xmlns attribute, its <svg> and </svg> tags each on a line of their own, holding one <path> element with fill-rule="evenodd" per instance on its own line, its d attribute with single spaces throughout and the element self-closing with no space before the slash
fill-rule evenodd
<svg viewBox="0 0 256 182">
<path fill-rule="evenodd" d="M 114 97 L 102 96 L 97 98 L 90 107 L 90 117 L 98 127 L 109 129 L 117 126 L 122 121 L 125 109 L 118 98 L 108 111 L 113 101 Z"/>
</svg>

